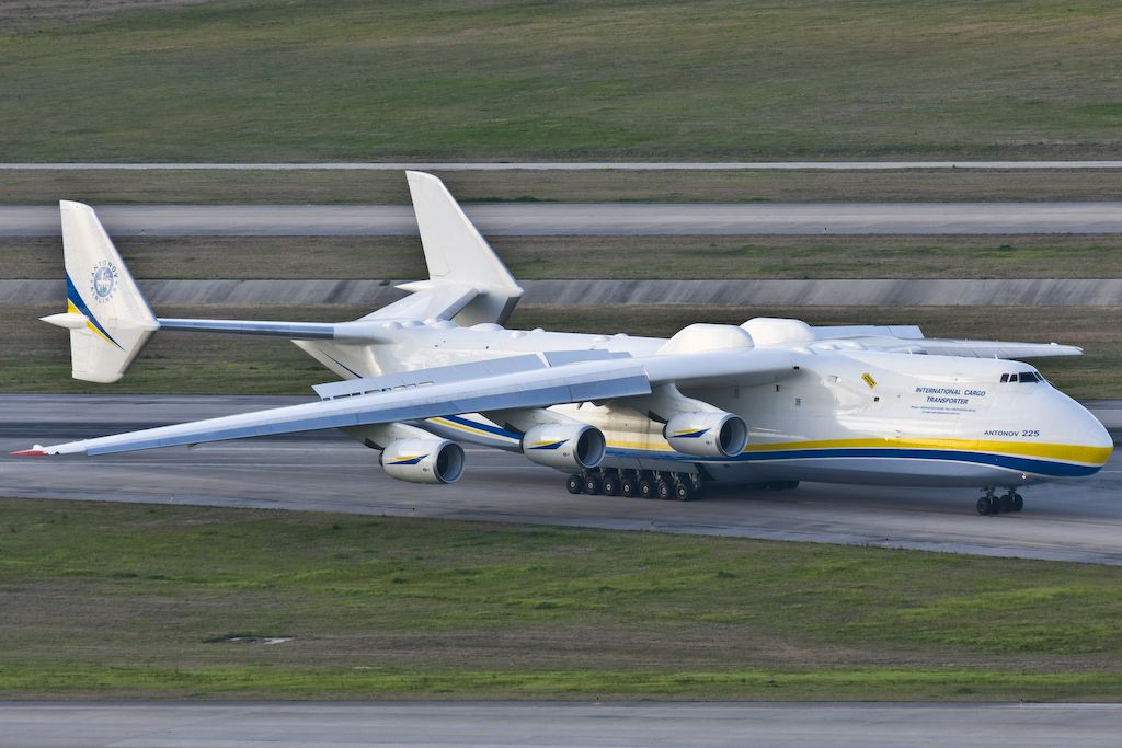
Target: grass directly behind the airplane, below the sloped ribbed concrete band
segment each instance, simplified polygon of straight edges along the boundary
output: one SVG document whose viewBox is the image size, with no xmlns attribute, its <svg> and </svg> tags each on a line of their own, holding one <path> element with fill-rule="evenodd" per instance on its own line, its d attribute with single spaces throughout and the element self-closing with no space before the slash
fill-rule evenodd
<svg viewBox="0 0 1122 748">
<path fill-rule="evenodd" d="M 338 322 L 369 310 L 351 306 L 266 308 L 169 307 L 166 316 Z M 66 333 L 38 322 L 53 306 L 0 306 L 0 380 L 9 393 L 309 394 L 333 375 L 287 341 L 164 332 L 155 335 L 125 379 L 89 385 L 70 377 Z M 1122 397 L 1122 307 L 695 307 L 521 305 L 513 329 L 670 336 L 692 322 L 741 324 L 753 316 L 793 316 L 811 324 L 920 324 L 931 336 L 1024 340 L 1083 345 L 1079 358 L 1040 359 L 1040 370 L 1079 398 Z"/>
</svg>

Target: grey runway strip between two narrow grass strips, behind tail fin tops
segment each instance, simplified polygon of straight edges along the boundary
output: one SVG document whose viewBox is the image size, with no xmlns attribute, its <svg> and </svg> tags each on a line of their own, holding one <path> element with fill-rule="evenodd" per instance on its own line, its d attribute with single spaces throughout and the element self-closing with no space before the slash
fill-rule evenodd
<svg viewBox="0 0 1122 748">
<path fill-rule="evenodd" d="M 113 236 L 416 236 L 410 205 L 95 205 Z M 1122 202 L 475 204 L 485 234 L 1122 233 Z M 55 205 L 0 206 L 0 236 L 59 234 Z"/>
</svg>

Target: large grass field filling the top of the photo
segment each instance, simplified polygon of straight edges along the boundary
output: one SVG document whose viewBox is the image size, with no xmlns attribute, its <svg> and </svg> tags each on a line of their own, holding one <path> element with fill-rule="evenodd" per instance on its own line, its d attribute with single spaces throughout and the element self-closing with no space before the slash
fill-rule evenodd
<svg viewBox="0 0 1122 748">
<path fill-rule="evenodd" d="M 1122 117 L 1098 0 L 92 4 L 2 6 L 0 161 L 1112 158 Z"/>
</svg>

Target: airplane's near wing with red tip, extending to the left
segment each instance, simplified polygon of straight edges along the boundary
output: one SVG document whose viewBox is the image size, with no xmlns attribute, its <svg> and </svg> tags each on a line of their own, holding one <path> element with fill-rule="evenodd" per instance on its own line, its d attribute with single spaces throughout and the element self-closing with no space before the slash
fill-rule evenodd
<svg viewBox="0 0 1122 748">
<path fill-rule="evenodd" d="M 555 360 L 563 361 L 563 358 Z M 335 382 L 321 388 L 321 396 L 327 396 L 329 399 L 319 403 L 160 426 L 53 446 L 36 445 L 15 454 L 112 454 L 481 410 L 605 401 L 647 395 L 651 393 L 652 384 L 665 381 L 697 384 L 728 377 L 732 378 L 730 381 L 754 381 L 761 377 L 785 376 L 791 370 L 791 355 L 779 351 L 655 355 L 644 360 L 605 358 L 561 362 L 557 366 L 551 366 L 548 355 L 530 354 L 411 372 L 415 375 L 412 379 L 403 379 L 404 375 L 394 375 L 390 378 L 377 377 Z M 339 386 L 360 389 L 328 389 Z"/>
</svg>

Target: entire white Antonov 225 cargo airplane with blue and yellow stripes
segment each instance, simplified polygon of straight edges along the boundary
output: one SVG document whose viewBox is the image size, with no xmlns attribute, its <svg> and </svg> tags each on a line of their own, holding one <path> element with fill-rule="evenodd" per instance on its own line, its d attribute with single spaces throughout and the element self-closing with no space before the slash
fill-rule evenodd
<svg viewBox="0 0 1122 748">
<path fill-rule="evenodd" d="M 1010 359 L 1068 345 L 938 340 L 916 326 L 756 317 L 669 340 L 506 330 L 522 288 L 436 177 L 407 173 L 429 279 L 353 322 L 156 317 L 93 210 L 62 202 L 73 376 L 120 379 L 157 330 L 274 335 L 343 378 L 320 400 L 17 454 L 109 454 L 340 428 L 417 483 L 463 473 L 458 442 L 569 473 L 573 493 L 690 499 L 708 482 L 976 487 L 983 515 L 1022 486 L 1091 475 L 1113 443 Z M 999 496 L 999 491 L 1003 491 Z"/>
</svg>

